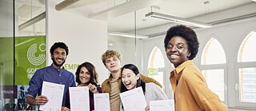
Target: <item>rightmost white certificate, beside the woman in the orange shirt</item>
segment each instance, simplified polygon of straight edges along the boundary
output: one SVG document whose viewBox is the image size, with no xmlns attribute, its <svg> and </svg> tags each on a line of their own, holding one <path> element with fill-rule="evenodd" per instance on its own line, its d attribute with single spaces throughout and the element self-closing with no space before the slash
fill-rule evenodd
<svg viewBox="0 0 256 111">
<path fill-rule="evenodd" d="M 174 111 L 174 99 L 150 101 L 150 111 Z"/>
</svg>

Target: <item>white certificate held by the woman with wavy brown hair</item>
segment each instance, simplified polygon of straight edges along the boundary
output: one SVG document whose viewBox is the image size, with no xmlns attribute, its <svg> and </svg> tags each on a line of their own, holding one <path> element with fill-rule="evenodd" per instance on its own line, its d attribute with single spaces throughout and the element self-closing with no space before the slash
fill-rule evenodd
<svg viewBox="0 0 256 111">
<path fill-rule="evenodd" d="M 87 86 L 70 87 L 70 110 L 90 111 L 90 97 Z"/>
</svg>

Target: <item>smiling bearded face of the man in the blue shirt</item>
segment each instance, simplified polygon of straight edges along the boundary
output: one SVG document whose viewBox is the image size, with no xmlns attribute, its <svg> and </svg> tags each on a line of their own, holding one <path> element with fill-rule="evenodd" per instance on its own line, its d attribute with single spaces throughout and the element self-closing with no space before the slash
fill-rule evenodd
<svg viewBox="0 0 256 111">
<path fill-rule="evenodd" d="M 53 60 L 54 66 L 61 67 L 66 61 L 66 50 L 58 47 L 50 57 Z"/>
</svg>

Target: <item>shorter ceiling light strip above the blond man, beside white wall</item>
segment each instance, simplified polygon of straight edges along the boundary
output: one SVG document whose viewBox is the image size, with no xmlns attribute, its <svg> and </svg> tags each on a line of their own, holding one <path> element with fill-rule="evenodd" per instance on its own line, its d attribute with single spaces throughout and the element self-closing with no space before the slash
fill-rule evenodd
<svg viewBox="0 0 256 111">
<path fill-rule="evenodd" d="M 120 32 L 112 32 L 112 31 L 108 31 L 108 34 L 110 35 L 114 35 L 114 36 L 121 36 L 121 37 L 127 37 L 127 38 L 142 38 L 142 39 L 145 39 L 145 38 L 149 38 L 148 36 L 146 35 L 138 35 L 136 34 L 136 36 L 134 34 L 127 34 L 127 33 L 120 33 Z"/>
</svg>

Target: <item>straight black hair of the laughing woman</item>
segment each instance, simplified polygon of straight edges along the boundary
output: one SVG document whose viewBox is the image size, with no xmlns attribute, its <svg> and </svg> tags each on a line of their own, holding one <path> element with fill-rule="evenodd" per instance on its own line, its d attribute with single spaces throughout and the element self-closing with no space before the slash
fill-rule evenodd
<svg viewBox="0 0 256 111">
<path fill-rule="evenodd" d="M 139 73 L 137 66 L 133 65 L 133 64 L 126 64 L 126 65 L 122 66 L 122 70 L 123 69 L 130 69 L 135 73 L 135 75 L 138 75 L 138 73 Z M 145 94 L 145 82 L 142 81 L 141 77 L 139 77 L 137 80 L 136 87 L 139 87 L 139 86 L 142 86 L 143 93 Z M 121 93 L 126 92 L 127 90 L 128 89 L 126 89 L 126 86 L 123 85 L 123 83 L 121 82 Z"/>
</svg>

